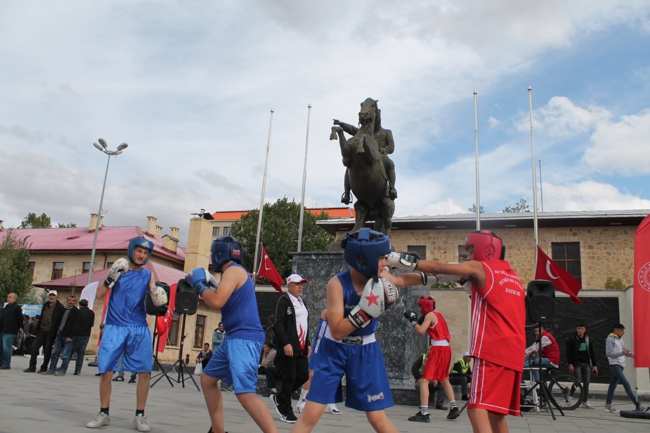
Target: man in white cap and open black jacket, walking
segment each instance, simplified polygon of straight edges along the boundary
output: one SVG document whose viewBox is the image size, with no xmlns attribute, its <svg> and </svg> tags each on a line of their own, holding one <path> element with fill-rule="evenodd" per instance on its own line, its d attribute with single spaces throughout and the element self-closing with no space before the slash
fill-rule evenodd
<svg viewBox="0 0 650 433">
<path fill-rule="evenodd" d="M 291 394 L 309 379 L 308 357 L 311 351 L 307 318 L 309 313 L 304 302 L 300 299 L 303 284 L 307 280 L 298 274 L 287 278 L 287 293 L 280 296 L 276 304 L 276 322 L 273 330 L 276 333 L 277 348 L 274 365 L 282 378 L 281 389 L 277 394 L 271 394 L 273 407 L 285 423 L 295 423 L 298 418 L 293 413 Z"/>
</svg>

